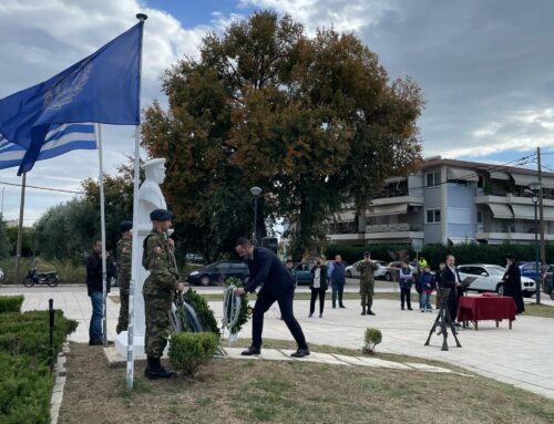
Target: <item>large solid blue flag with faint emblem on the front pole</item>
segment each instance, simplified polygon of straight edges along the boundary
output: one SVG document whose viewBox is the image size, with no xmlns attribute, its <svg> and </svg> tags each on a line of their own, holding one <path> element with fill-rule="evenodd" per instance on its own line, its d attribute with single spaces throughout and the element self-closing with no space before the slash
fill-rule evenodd
<svg viewBox="0 0 554 424">
<path fill-rule="evenodd" d="M 18 175 L 38 159 L 52 124 L 140 124 L 143 22 L 50 80 L 0 100 L 0 134 L 24 148 Z"/>
</svg>

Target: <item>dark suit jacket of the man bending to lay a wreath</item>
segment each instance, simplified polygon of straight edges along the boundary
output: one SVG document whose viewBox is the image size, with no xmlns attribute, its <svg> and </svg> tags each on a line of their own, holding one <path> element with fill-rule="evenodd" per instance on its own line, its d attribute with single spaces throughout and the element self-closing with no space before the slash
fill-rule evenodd
<svg viewBox="0 0 554 424">
<path fill-rule="evenodd" d="M 266 294 L 279 297 L 289 289 L 294 289 L 293 275 L 285 268 L 277 256 L 265 247 L 255 247 L 252 259 L 246 260 L 250 271 L 250 280 L 245 285 L 246 291 L 254 291 L 264 285 Z"/>
</svg>

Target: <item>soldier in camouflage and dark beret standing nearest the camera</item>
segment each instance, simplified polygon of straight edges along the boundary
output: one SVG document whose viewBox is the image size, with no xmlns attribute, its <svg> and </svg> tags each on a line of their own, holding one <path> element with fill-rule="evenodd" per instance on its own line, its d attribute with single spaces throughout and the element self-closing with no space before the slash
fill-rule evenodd
<svg viewBox="0 0 554 424">
<path fill-rule="evenodd" d="M 173 375 L 160 363 L 171 333 L 170 313 L 173 298 L 176 290 L 184 289 L 183 283 L 178 282 L 174 242 L 167 237 L 172 215 L 166 209 L 153 210 L 150 219 L 154 228 L 144 239 L 142 263 L 150 271 L 142 289 L 146 319 L 144 345 L 147 356 L 144 375 L 148 379 L 167 379 Z"/>
</svg>

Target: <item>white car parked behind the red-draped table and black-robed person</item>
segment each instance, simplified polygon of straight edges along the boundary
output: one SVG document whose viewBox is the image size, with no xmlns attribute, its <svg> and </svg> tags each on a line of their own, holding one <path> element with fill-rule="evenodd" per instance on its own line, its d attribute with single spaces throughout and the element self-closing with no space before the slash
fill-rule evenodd
<svg viewBox="0 0 554 424">
<path fill-rule="evenodd" d="M 460 265 L 458 267 L 458 273 L 460 279 L 463 280 L 465 277 L 475 277 L 468 290 L 474 291 L 495 291 L 499 294 L 504 293 L 504 285 L 502 282 L 502 277 L 506 270 L 497 265 L 486 265 L 486 263 L 472 263 L 472 265 Z M 521 278 L 521 289 L 523 296 L 526 298 L 532 297 L 536 291 L 535 281 L 529 277 Z"/>
</svg>

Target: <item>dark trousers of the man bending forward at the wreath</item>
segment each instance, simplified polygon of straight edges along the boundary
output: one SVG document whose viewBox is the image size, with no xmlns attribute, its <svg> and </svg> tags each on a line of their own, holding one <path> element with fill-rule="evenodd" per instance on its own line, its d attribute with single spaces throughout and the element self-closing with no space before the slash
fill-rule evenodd
<svg viewBox="0 0 554 424">
<path fill-rule="evenodd" d="M 264 313 L 277 302 L 279 304 L 280 314 L 283 320 L 288 327 L 288 330 L 293 334 L 298 344 L 299 349 L 308 349 L 306 344 L 306 338 L 304 337 L 302 329 L 293 313 L 293 298 L 295 294 L 295 288 L 291 286 L 286 289 L 279 296 L 273 293 L 266 293 L 261 289 L 258 293 L 258 299 L 254 306 L 253 322 L 252 322 L 252 345 L 254 348 L 261 347 L 261 331 L 264 330 Z"/>
</svg>

